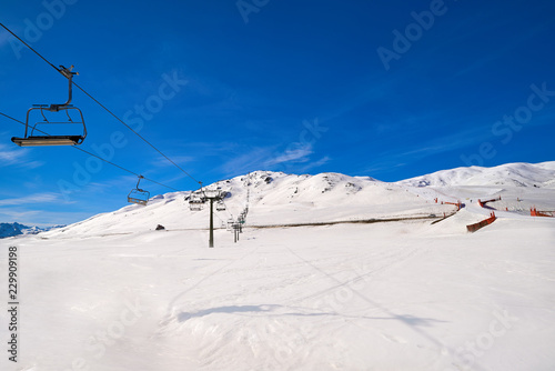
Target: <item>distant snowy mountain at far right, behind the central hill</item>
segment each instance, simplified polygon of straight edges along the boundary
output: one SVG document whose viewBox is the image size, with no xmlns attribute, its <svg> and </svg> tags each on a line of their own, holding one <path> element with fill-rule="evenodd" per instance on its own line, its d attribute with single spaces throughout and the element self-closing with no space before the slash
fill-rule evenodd
<svg viewBox="0 0 555 371">
<path fill-rule="evenodd" d="M 555 161 L 507 163 L 495 168 L 456 168 L 400 181 L 412 187 L 516 186 L 555 189 Z"/>
</svg>

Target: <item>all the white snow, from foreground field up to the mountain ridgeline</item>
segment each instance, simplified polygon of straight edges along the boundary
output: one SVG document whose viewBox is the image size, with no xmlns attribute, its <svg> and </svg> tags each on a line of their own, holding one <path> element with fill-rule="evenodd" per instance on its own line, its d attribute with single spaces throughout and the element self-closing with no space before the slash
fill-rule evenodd
<svg viewBox="0 0 555 371">
<path fill-rule="evenodd" d="M 6 302 L 9 247 L 20 283 L 18 363 L 3 310 L 0 369 L 554 370 L 555 218 L 529 215 L 555 210 L 554 180 L 555 162 L 398 183 L 255 172 L 213 186 L 231 193 L 214 249 L 189 192 L 0 240 Z M 248 193 L 234 243 L 222 221 Z"/>
</svg>

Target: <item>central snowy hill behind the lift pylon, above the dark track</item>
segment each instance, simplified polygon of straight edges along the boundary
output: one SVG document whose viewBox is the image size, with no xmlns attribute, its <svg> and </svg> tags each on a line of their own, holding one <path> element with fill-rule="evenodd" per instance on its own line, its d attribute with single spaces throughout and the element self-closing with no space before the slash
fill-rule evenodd
<svg viewBox="0 0 555 371">
<path fill-rule="evenodd" d="M 453 210 L 453 207 L 432 204 L 403 186 L 339 173 L 294 176 L 256 171 L 208 188 L 229 193 L 226 211 L 215 213 L 218 228 L 225 227 L 230 218 L 236 219 L 248 203 L 249 225 L 425 217 Z M 190 192 L 157 195 L 147 207 L 128 205 L 44 237 L 127 233 L 137 229 L 152 230 L 158 224 L 169 230 L 208 228 L 209 208 L 190 211 L 185 201 L 189 195 Z"/>
</svg>

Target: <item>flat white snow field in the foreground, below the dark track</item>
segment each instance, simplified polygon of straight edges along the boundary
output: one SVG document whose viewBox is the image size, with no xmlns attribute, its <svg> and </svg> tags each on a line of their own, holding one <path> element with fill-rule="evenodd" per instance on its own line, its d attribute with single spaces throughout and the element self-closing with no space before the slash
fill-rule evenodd
<svg viewBox="0 0 555 371">
<path fill-rule="evenodd" d="M 206 231 L 13 239 L 21 364 L 551 369 L 553 221 L 431 233 L 441 223 L 246 229 L 238 244 L 219 231 L 215 249 Z"/>
</svg>

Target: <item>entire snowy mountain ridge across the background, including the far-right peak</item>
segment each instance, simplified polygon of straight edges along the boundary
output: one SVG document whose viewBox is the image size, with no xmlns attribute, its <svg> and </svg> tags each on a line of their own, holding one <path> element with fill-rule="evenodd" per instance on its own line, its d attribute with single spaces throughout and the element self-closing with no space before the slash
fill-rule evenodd
<svg viewBox="0 0 555 371">
<path fill-rule="evenodd" d="M 472 190 L 468 189 L 471 186 Z M 450 188 L 448 192 L 445 187 Z M 537 192 L 523 197 L 522 190 L 531 187 Z M 452 205 L 436 204 L 436 198 L 456 202 L 502 194 L 507 200 L 500 203 L 503 209 L 512 208 L 522 214 L 529 214 L 533 205 L 544 210 L 555 209 L 555 162 L 458 168 L 395 183 L 340 173 L 296 176 L 255 171 L 219 181 L 206 189 L 228 192 L 224 200 L 226 210 L 215 212 L 214 225 L 220 229 L 225 228 L 229 220 L 236 219 L 246 205 L 248 223 L 252 227 L 418 218 L 453 211 Z M 137 229 L 152 230 L 158 224 L 169 230 L 205 229 L 209 208 L 190 211 L 186 201 L 190 194 L 190 191 L 159 194 L 147 207 L 130 204 L 57 229 L 49 235 L 128 233 Z"/>
</svg>

